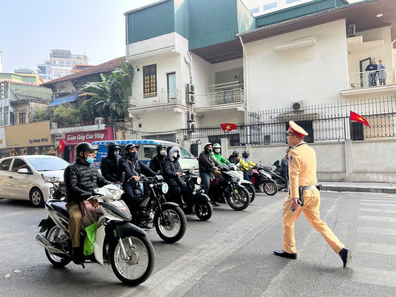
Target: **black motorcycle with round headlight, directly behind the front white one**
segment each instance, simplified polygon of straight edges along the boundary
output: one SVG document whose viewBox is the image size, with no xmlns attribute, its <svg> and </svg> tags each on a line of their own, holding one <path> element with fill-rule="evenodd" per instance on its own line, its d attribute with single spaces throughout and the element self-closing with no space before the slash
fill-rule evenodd
<svg viewBox="0 0 396 297">
<path fill-rule="evenodd" d="M 169 185 L 163 176 L 141 177 L 140 182 L 147 191 L 142 194 L 135 190 L 132 223 L 146 226 L 154 221 L 155 230 L 164 241 L 173 243 L 180 240 L 187 229 L 186 214 L 177 203 L 166 201 Z"/>
</svg>

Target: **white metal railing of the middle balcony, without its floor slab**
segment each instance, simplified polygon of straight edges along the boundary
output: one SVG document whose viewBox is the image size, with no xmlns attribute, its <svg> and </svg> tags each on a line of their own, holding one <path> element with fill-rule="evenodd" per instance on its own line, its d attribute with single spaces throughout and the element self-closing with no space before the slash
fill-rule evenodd
<svg viewBox="0 0 396 297">
<path fill-rule="evenodd" d="M 245 102 L 244 90 L 233 89 L 215 93 L 195 95 L 195 107 Z"/>
</svg>

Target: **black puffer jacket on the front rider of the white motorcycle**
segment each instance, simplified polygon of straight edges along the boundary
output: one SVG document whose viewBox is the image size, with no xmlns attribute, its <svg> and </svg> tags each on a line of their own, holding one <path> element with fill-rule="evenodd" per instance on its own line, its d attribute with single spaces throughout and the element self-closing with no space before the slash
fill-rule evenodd
<svg viewBox="0 0 396 297">
<path fill-rule="evenodd" d="M 66 167 L 63 179 L 68 203 L 80 203 L 92 195 L 94 188 L 111 184 L 110 181 L 100 175 L 94 165 L 83 164 L 80 159 Z"/>
</svg>

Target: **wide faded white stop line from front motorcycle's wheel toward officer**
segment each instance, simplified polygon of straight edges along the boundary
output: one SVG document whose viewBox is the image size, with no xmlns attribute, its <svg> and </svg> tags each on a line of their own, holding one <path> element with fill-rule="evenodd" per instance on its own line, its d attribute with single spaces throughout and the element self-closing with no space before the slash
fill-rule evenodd
<svg viewBox="0 0 396 297">
<path fill-rule="evenodd" d="M 235 222 L 223 232 L 203 242 L 190 253 L 151 275 L 142 285 L 128 290 L 121 297 L 165 296 L 216 257 L 226 258 L 245 245 L 246 237 L 254 238 L 257 233 L 261 232 L 262 226 L 260 224 L 276 212 L 281 211 L 282 205 L 283 199 L 262 207 L 248 217 Z"/>
</svg>

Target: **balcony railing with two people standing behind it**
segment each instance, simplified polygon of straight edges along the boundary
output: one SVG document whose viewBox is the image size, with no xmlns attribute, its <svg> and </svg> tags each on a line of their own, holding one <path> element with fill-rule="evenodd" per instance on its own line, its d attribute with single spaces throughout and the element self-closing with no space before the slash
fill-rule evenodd
<svg viewBox="0 0 396 297">
<path fill-rule="evenodd" d="M 348 89 L 395 84 L 394 68 L 352 73 L 348 75 Z"/>
</svg>

